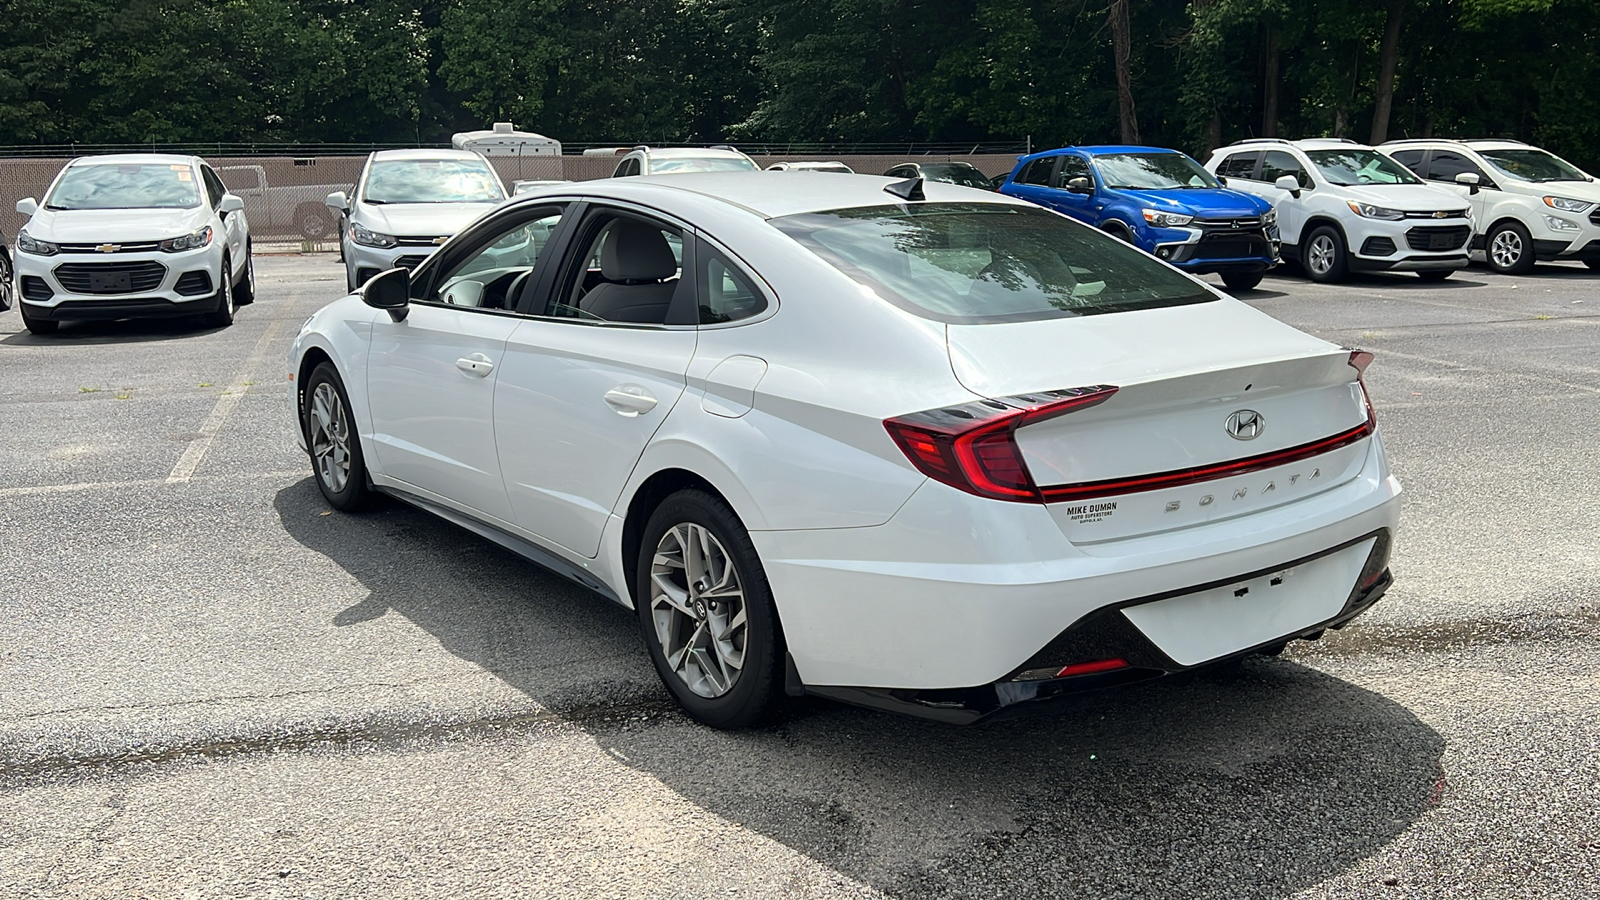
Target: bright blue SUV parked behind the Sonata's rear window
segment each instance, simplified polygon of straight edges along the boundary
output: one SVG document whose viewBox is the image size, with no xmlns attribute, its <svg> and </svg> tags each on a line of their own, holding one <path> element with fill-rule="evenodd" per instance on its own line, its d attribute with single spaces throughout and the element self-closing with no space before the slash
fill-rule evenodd
<svg viewBox="0 0 1600 900">
<path fill-rule="evenodd" d="M 1064 147 L 1019 157 L 1002 194 L 1066 213 L 1232 290 L 1277 264 L 1272 203 L 1218 184 L 1162 147 Z"/>
</svg>

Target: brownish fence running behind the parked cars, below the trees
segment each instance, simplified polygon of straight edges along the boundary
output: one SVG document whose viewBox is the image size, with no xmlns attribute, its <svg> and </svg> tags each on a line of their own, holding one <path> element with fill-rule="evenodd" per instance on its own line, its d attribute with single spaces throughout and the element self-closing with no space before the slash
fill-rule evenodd
<svg viewBox="0 0 1600 900">
<path fill-rule="evenodd" d="M 562 157 L 491 157 L 506 181 L 608 178 L 621 154 Z M 10 243 L 27 218 L 16 213 L 24 197 L 43 199 L 72 157 L 0 157 L 0 235 Z M 258 243 L 293 243 L 307 251 L 336 250 L 338 221 L 323 205 L 334 191 L 354 191 L 366 154 L 338 155 L 206 155 L 229 191 L 245 200 Z M 837 160 L 866 175 L 882 175 L 904 162 L 968 162 L 984 175 L 1011 171 L 1016 154 L 750 154 L 766 168 L 779 162 Z"/>
</svg>

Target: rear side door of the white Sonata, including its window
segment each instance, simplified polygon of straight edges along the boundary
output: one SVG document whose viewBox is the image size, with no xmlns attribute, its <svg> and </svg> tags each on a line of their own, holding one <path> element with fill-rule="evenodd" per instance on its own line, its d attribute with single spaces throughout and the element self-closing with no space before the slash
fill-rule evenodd
<svg viewBox="0 0 1600 900">
<path fill-rule="evenodd" d="M 686 234 L 642 210 L 589 207 L 539 315 L 506 344 L 494 421 L 512 514 L 581 556 L 598 554 L 685 389 L 698 322 Z"/>
</svg>

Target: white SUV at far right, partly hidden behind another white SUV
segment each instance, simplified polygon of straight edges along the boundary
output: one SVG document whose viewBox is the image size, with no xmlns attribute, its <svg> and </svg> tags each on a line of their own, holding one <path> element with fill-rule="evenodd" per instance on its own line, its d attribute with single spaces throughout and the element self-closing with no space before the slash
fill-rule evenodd
<svg viewBox="0 0 1600 900">
<path fill-rule="evenodd" d="M 1496 272 L 1523 274 L 1538 259 L 1600 269 L 1600 186 L 1576 165 L 1522 141 L 1390 141 L 1378 147 L 1419 178 L 1472 205 Z"/>
</svg>

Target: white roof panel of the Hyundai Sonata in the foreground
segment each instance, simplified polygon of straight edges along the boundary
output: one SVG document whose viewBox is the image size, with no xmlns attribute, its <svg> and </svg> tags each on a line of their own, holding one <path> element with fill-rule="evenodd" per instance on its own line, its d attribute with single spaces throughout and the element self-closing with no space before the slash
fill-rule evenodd
<svg viewBox="0 0 1600 900">
<path fill-rule="evenodd" d="M 595 199 L 632 200 L 651 205 L 666 203 L 670 211 L 672 200 L 683 194 L 726 203 L 754 213 L 762 218 L 792 216 L 800 213 L 819 213 L 826 210 L 848 210 L 859 207 L 888 207 L 902 203 L 893 194 L 883 191 L 886 184 L 896 184 L 899 178 L 883 178 L 877 175 L 840 175 L 837 178 L 794 178 L 782 171 L 696 171 L 682 175 L 643 175 L 634 178 L 602 178 L 582 181 L 574 186 L 549 187 L 538 194 L 523 194 L 518 203 L 538 200 L 539 197 L 560 197 L 573 187 Z M 1030 207 L 1026 200 L 1016 200 L 990 191 L 962 187 L 942 181 L 925 181 L 923 194 L 930 200 L 963 202 L 963 203 L 995 203 L 1011 207 Z"/>
</svg>

